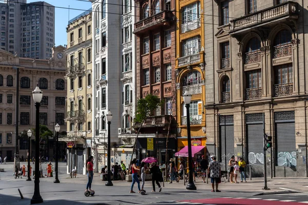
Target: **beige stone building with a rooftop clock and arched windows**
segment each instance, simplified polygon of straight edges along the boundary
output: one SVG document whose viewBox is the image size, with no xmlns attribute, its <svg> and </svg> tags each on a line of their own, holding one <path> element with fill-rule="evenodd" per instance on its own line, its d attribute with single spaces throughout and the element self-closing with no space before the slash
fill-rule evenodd
<svg viewBox="0 0 308 205">
<path fill-rule="evenodd" d="M 10 52 L 0 51 L 0 151 L 2 156 L 8 156 L 8 160 L 13 160 L 14 158 L 16 142 L 14 126 L 16 124 L 16 70 L 13 67 L 20 68 L 20 79 L 18 79 L 20 80 L 18 133 L 35 128 L 35 107 L 31 92 L 37 84 L 43 91 L 40 124 L 54 131 L 54 126 L 58 123 L 61 126 L 61 132 L 66 131 L 66 126 L 64 126 L 66 60 L 65 56 L 62 59 L 56 57 L 58 53 L 63 54 L 64 49 L 62 46 L 53 47 L 50 60 L 20 58 Z M 27 140 L 21 138 L 20 142 L 27 142 Z M 53 143 L 53 139 L 49 139 L 50 142 L 51 140 Z M 47 151 L 48 146 L 44 147 L 45 151 L 42 151 L 42 154 L 52 157 L 53 146 L 52 144 L 49 146 L 51 149 Z M 33 148 L 34 136 L 31 137 L 31 157 L 34 156 Z M 20 143 L 20 157 L 22 155 L 26 157 L 27 152 L 28 144 Z"/>
</svg>

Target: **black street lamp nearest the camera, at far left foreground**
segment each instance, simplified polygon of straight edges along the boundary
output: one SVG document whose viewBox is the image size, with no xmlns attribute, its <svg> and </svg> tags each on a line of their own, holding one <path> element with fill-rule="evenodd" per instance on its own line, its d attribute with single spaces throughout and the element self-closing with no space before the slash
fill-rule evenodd
<svg viewBox="0 0 308 205">
<path fill-rule="evenodd" d="M 40 106 L 43 97 L 43 92 L 38 88 L 32 91 L 33 100 L 35 103 L 35 179 L 34 179 L 34 194 L 31 199 L 31 204 L 42 203 L 43 198 L 40 195 Z"/>
</svg>

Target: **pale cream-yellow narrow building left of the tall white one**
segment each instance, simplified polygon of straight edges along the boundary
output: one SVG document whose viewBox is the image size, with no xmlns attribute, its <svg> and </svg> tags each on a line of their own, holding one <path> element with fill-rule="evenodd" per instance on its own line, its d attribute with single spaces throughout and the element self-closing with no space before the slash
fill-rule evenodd
<svg viewBox="0 0 308 205">
<path fill-rule="evenodd" d="M 91 153 L 92 138 L 92 13 L 86 11 L 71 19 L 67 30 L 67 138 L 73 142 L 68 149 L 68 167 L 86 174 L 85 162 Z M 71 167 L 71 156 L 73 165 Z"/>
</svg>

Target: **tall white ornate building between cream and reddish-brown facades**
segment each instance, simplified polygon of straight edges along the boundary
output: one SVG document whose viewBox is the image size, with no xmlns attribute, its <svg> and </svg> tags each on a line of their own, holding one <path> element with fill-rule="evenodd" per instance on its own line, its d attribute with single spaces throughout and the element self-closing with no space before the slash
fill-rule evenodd
<svg viewBox="0 0 308 205">
<path fill-rule="evenodd" d="M 125 152 L 129 150 L 118 148 L 123 144 L 118 136 L 130 132 L 134 115 L 134 9 L 130 0 L 109 0 L 110 3 L 108 0 L 89 1 L 92 2 L 93 11 L 92 107 L 95 108 L 92 118 L 92 130 L 95 132 L 91 154 L 94 155 L 94 169 L 98 171 L 107 164 L 108 125 L 105 115 L 108 110 L 112 113 L 111 163 L 126 160 L 128 157 Z"/>
</svg>

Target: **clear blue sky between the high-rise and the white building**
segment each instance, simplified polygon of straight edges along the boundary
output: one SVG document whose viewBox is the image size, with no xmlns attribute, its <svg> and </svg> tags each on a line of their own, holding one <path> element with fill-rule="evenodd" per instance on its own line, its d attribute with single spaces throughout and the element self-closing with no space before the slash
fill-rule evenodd
<svg viewBox="0 0 308 205">
<path fill-rule="evenodd" d="M 27 0 L 27 3 L 38 2 L 40 0 Z M 92 7 L 91 2 L 81 2 L 77 0 L 41 0 L 55 7 L 65 7 L 68 9 L 55 8 L 55 46 L 67 44 L 66 26 L 68 20 L 83 13 Z M 72 10 L 81 9 L 81 10 Z M 69 15 L 68 15 L 69 14 Z"/>
</svg>

